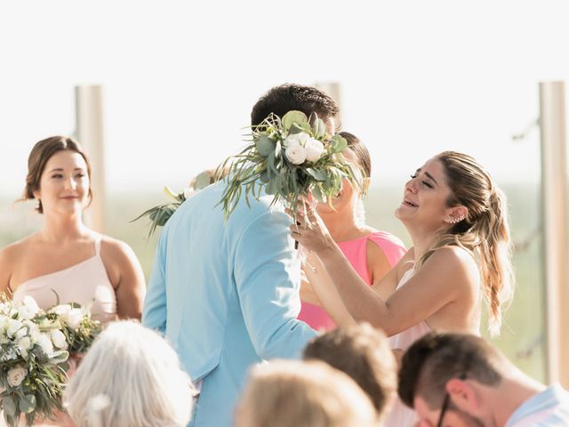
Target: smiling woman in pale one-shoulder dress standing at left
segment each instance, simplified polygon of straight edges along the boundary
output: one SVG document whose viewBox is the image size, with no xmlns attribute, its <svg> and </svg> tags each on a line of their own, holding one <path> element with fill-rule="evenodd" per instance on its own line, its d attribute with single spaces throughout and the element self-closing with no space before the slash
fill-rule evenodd
<svg viewBox="0 0 569 427">
<path fill-rule="evenodd" d="M 140 318 L 146 285 L 132 249 L 87 228 L 91 167 L 76 141 L 53 136 L 28 158 L 24 199 L 36 199 L 41 230 L 0 250 L 0 294 L 32 296 L 47 310 L 57 303 L 90 304 L 102 323 Z M 68 425 L 60 420 L 55 425 Z"/>
</svg>

